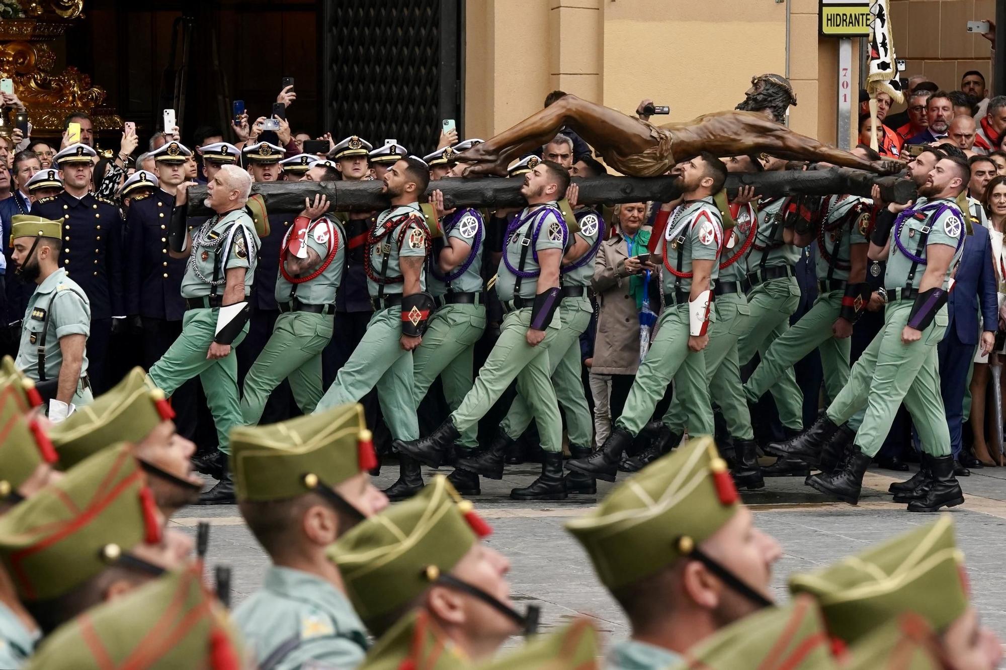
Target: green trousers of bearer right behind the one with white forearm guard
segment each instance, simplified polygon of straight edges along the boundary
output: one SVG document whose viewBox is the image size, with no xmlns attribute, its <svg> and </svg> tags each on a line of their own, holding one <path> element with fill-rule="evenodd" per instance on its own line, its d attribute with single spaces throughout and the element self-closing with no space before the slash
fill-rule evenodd
<svg viewBox="0 0 1006 670">
<path fill-rule="evenodd" d="M 750 412 L 740 391 L 740 365 L 737 362 L 737 339 L 747 330 L 750 310 L 742 293 L 716 296 L 716 321 L 709 326 L 709 344 L 702 350 L 705 357 L 705 378 L 686 379 L 693 368 L 678 370 L 675 382 L 683 384 L 705 383 L 709 396 L 723 410 L 723 420 L 730 436 L 737 440 L 753 440 Z M 681 404 L 680 393 L 675 393 L 664 413 L 664 426 L 672 433 L 683 434 L 688 426 L 687 412 Z M 690 431 L 689 431 L 690 434 Z"/>
</svg>

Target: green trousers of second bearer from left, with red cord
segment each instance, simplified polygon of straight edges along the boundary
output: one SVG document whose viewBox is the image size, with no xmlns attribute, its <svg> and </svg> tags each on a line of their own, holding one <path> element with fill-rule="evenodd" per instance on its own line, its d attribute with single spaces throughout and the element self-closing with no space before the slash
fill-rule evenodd
<svg viewBox="0 0 1006 670">
<path fill-rule="evenodd" d="M 331 314 L 286 312 L 276 319 L 273 334 L 244 376 L 241 416 L 245 424 L 258 424 L 266 401 L 284 379 L 297 406 L 305 414 L 314 411 L 323 391 L 321 352 L 332 340 Z"/>
</svg>

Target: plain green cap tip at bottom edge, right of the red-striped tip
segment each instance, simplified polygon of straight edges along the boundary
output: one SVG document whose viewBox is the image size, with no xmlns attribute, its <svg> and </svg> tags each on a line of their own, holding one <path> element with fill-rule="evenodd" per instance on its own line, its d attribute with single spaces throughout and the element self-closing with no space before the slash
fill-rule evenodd
<svg viewBox="0 0 1006 670">
<path fill-rule="evenodd" d="M 585 617 L 560 631 L 539 635 L 519 650 L 477 665 L 480 670 L 592 670 L 601 667 L 598 631 Z"/>
</svg>

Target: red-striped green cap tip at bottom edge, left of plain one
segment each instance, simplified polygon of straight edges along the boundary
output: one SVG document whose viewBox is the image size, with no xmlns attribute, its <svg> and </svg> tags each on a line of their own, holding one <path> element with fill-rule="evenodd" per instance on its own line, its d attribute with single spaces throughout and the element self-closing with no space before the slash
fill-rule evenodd
<svg viewBox="0 0 1006 670">
<path fill-rule="evenodd" d="M 405 615 L 367 652 L 357 670 L 462 670 L 470 668 L 465 652 L 423 609 Z"/>
</svg>

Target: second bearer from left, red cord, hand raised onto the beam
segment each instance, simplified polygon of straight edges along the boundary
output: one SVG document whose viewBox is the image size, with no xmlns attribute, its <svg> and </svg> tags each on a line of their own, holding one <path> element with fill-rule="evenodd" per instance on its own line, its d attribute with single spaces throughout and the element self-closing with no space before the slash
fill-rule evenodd
<svg viewBox="0 0 1006 670">
<path fill-rule="evenodd" d="M 335 170 L 315 165 L 305 178 L 334 181 Z M 334 216 L 326 216 L 324 195 L 305 198 L 304 209 L 287 230 L 281 246 L 276 302 L 280 316 L 262 353 L 244 377 L 241 414 L 258 424 L 266 400 L 290 379 L 297 405 L 311 413 L 321 399 L 321 352 L 332 339 L 335 297 L 346 262 L 346 233 Z"/>
</svg>

